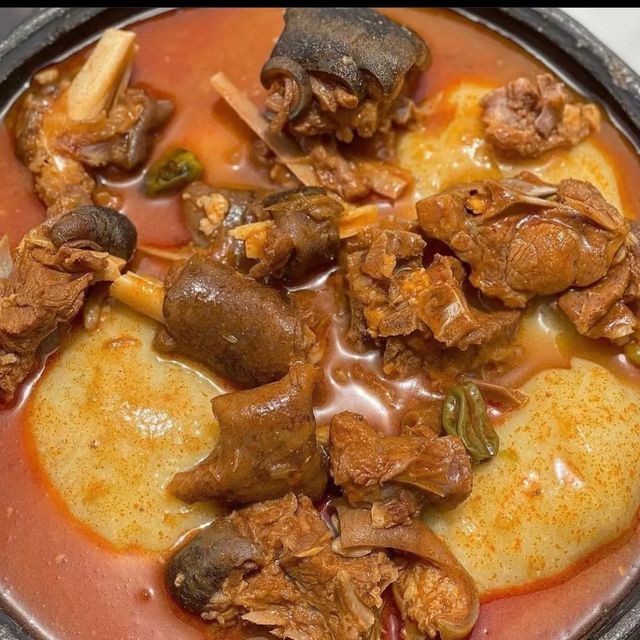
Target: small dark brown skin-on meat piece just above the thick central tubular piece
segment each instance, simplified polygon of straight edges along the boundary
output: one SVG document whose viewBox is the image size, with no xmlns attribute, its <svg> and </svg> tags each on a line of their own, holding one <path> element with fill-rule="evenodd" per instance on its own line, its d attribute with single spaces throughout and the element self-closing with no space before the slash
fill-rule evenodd
<svg viewBox="0 0 640 640">
<path fill-rule="evenodd" d="M 264 257 L 249 272 L 294 282 L 333 262 L 340 249 L 338 215 L 343 206 L 324 189 L 302 187 L 267 196 L 261 203 L 274 226 Z"/>
</svg>

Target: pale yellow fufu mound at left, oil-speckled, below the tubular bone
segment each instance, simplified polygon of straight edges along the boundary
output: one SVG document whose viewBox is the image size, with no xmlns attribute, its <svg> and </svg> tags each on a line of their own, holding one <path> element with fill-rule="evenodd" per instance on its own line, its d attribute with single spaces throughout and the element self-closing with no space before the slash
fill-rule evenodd
<svg viewBox="0 0 640 640">
<path fill-rule="evenodd" d="M 116 305 L 77 329 L 30 401 L 38 459 L 71 513 L 119 549 L 159 551 L 211 520 L 165 487 L 212 448 L 219 388 L 151 347 L 155 323 Z"/>
</svg>

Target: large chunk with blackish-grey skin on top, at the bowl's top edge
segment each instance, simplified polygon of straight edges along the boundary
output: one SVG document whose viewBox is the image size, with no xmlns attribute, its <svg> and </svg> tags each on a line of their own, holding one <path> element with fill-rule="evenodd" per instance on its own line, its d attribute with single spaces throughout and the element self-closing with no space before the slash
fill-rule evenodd
<svg viewBox="0 0 640 640">
<path fill-rule="evenodd" d="M 274 128 L 291 121 L 298 135 L 370 137 L 389 127 L 407 76 L 428 59 L 419 36 L 373 9 L 289 8 L 261 74 Z"/>
</svg>

